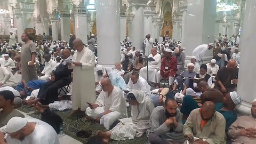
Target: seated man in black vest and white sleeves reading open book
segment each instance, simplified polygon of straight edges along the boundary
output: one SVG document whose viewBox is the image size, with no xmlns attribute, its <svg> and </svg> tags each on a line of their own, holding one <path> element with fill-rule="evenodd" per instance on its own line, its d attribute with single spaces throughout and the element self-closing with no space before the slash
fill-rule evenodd
<svg viewBox="0 0 256 144">
<path fill-rule="evenodd" d="M 186 93 L 188 93 L 188 91 L 189 91 L 190 93 L 194 93 L 194 95 L 196 95 L 197 97 L 201 96 L 202 92 L 200 91 L 200 89 L 197 86 L 197 84 L 199 84 L 200 81 L 197 82 L 196 81 L 197 79 L 195 79 L 195 78 L 204 78 L 203 81 L 207 82 L 209 87 L 212 86 L 212 77 L 210 75 L 206 74 L 206 71 L 207 71 L 207 66 L 205 64 L 202 64 L 200 67 L 199 74 L 196 74 L 194 77 L 193 86 L 189 87 L 186 90 Z"/>
</svg>

